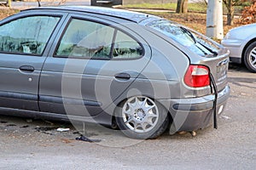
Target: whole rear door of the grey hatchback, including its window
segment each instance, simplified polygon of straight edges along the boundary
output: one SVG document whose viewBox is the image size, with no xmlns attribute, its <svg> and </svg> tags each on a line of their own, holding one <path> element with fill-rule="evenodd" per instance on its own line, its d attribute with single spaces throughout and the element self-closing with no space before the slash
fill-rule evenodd
<svg viewBox="0 0 256 170">
<path fill-rule="evenodd" d="M 70 15 L 44 64 L 41 111 L 96 116 L 131 85 L 148 64 L 150 48 L 135 32 L 114 25 Z"/>
</svg>

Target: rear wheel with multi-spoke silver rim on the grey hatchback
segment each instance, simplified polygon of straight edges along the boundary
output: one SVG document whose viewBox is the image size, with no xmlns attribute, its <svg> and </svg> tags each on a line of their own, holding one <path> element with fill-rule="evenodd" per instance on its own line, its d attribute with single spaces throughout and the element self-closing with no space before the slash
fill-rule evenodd
<svg viewBox="0 0 256 170">
<path fill-rule="evenodd" d="M 144 96 L 127 99 L 116 111 L 116 122 L 126 136 L 133 139 L 155 139 L 169 124 L 166 109 Z"/>
</svg>

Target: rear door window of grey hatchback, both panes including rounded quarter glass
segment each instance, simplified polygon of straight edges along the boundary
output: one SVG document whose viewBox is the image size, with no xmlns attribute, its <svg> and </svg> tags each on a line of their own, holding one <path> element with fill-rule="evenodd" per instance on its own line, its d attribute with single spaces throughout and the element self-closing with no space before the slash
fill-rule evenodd
<svg viewBox="0 0 256 170">
<path fill-rule="evenodd" d="M 131 59 L 142 46 L 122 31 L 90 20 L 73 19 L 61 37 L 55 56 L 84 59 Z"/>
</svg>

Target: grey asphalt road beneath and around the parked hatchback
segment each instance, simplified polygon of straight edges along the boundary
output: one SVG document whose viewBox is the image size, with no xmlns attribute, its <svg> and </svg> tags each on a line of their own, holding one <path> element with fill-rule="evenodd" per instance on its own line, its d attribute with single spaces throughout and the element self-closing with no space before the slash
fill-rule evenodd
<svg viewBox="0 0 256 170">
<path fill-rule="evenodd" d="M 231 96 L 218 122 L 197 132 L 158 139 L 127 139 L 118 131 L 86 126 L 100 142 L 76 140 L 69 123 L 0 116 L 0 169 L 255 169 L 256 74 L 230 65 Z M 58 127 L 69 127 L 58 132 Z"/>
</svg>

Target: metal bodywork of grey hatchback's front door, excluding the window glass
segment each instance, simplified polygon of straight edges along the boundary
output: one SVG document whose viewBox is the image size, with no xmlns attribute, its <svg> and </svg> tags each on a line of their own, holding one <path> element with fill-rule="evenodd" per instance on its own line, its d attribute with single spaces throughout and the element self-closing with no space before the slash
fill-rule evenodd
<svg viewBox="0 0 256 170">
<path fill-rule="evenodd" d="M 49 12 L 20 13 L 1 20 L 0 26 L 11 21 L 31 17 L 35 15 L 51 16 Z M 61 17 L 60 14 L 56 16 Z M 61 20 L 59 21 L 61 23 Z M 60 26 L 60 25 L 59 25 Z M 55 29 L 58 29 L 56 26 Z M 49 40 L 52 43 L 52 40 Z M 44 60 L 47 57 L 49 47 L 44 48 L 42 55 L 1 53 L 0 77 L 3 82 L 0 85 L 1 107 L 14 109 L 39 111 L 38 87 L 39 78 Z M 32 71 L 30 71 L 32 69 Z"/>
</svg>

